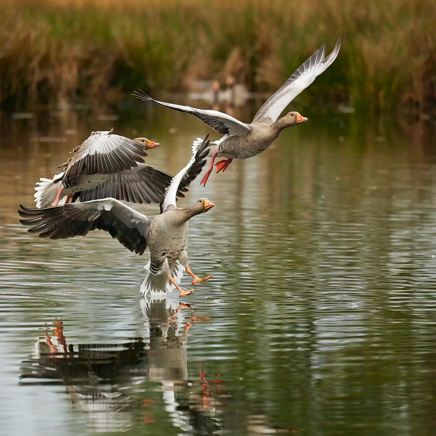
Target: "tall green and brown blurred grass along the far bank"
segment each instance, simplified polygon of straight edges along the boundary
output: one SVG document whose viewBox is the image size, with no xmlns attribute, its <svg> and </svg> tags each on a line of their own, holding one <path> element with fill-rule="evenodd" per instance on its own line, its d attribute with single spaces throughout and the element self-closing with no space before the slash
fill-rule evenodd
<svg viewBox="0 0 436 436">
<path fill-rule="evenodd" d="M 2 1 L 0 100 L 119 102 L 232 74 L 273 91 L 324 42 L 338 59 L 303 96 L 371 112 L 436 105 L 434 0 Z"/>
</svg>

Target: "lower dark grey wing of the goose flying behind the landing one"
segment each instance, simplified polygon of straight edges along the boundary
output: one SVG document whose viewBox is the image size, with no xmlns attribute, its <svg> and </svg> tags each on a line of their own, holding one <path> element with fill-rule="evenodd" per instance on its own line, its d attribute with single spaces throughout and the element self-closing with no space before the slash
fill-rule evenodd
<svg viewBox="0 0 436 436">
<path fill-rule="evenodd" d="M 80 199 L 81 202 L 87 202 L 112 197 L 131 203 L 159 203 L 171 180 L 172 176 L 166 172 L 150 165 L 138 164 L 130 171 L 111 175 L 108 180 L 94 188 L 76 192 L 72 201 Z M 185 196 L 182 190 L 187 191 L 186 188 L 179 189 L 177 196 Z"/>
</svg>

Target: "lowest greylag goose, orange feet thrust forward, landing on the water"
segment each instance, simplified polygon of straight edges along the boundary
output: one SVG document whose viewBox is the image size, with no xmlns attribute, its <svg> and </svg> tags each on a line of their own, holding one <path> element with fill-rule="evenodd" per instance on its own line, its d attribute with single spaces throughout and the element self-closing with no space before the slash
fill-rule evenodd
<svg viewBox="0 0 436 436">
<path fill-rule="evenodd" d="M 175 286 L 180 295 L 189 295 L 180 286 L 183 269 L 192 277 L 192 284 L 201 283 L 211 275 L 200 279 L 188 265 L 188 221 L 195 215 L 207 212 L 214 204 L 207 199 L 198 200 L 193 206 L 177 208 L 176 194 L 188 186 L 200 174 L 206 164 L 209 140 L 192 147 L 189 163 L 177 173 L 161 201 L 161 214 L 143 215 L 115 199 L 69 203 L 44 209 L 28 209 L 21 206 L 18 213 L 30 226 L 30 233 L 50 239 L 85 236 L 89 231 L 105 230 L 130 251 L 142 255 L 148 247 L 150 262 L 148 274 L 141 291 L 171 291 Z"/>
</svg>

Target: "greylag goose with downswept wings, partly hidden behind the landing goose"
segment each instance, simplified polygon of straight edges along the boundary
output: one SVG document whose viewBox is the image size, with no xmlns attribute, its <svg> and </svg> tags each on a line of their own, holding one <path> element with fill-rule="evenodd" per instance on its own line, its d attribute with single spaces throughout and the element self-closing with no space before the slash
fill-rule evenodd
<svg viewBox="0 0 436 436">
<path fill-rule="evenodd" d="M 112 129 L 113 130 L 113 129 Z M 159 144 L 147 138 L 130 140 L 124 136 L 92 132 L 73 150 L 63 165 L 65 170 L 53 179 L 36 183 L 37 208 L 57 206 L 66 196 L 68 203 L 113 197 L 132 203 L 158 203 L 171 182 L 171 176 L 144 163 L 145 150 Z M 180 193 L 179 193 L 180 194 Z M 179 196 L 183 196 L 179 195 Z"/>
</svg>

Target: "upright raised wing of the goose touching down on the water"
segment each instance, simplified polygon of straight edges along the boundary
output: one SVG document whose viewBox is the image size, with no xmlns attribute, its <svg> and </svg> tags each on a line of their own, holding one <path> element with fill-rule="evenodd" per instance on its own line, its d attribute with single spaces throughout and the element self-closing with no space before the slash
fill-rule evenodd
<svg viewBox="0 0 436 436">
<path fill-rule="evenodd" d="M 161 200 L 161 213 L 167 210 L 170 205 L 175 206 L 176 193 L 180 189 L 187 188 L 189 184 L 199 175 L 206 164 L 206 157 L 209 152 L 209 135 L 202 143 L 194 142 L 192 146 L 192 157 L 183 170 L 179 171 L 172 179 L 165 195 Z"/>
</svg>

